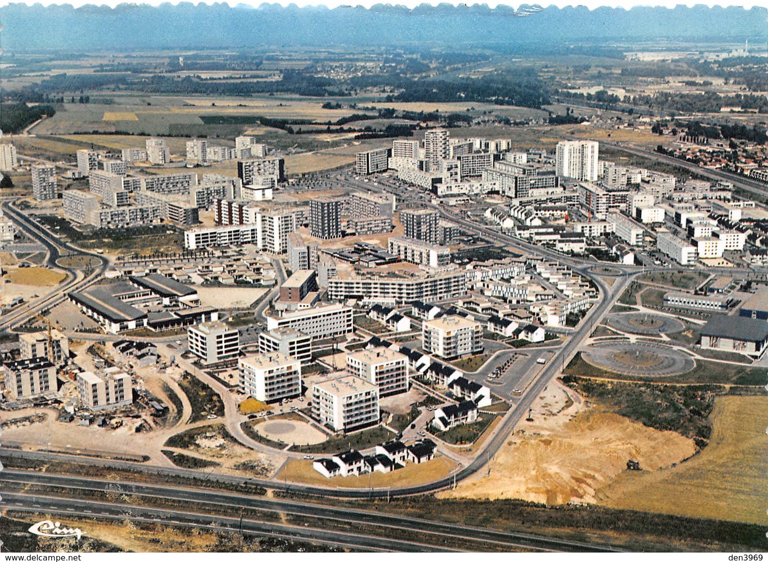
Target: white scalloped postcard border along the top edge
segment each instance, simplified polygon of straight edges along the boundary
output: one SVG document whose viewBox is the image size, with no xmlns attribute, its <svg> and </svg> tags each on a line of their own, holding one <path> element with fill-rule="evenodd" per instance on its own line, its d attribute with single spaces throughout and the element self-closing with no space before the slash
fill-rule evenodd
<svg viewBox="0 0 768 562">
<path fill-rule="evenodd" d="M 189 1 L 189 0 L 185 0 Z M 213 4 L 216 0 L 208 0 L 208 2 L 204 2 L 207 4 Z M 266 0 L 228 0 L 226 3 L 230 6 L 234 6 L 237 4 L 247 4 L 247 5 L 253 5 L 258 6 L 260 4 L 265 3 Z M 11 0 L 11 2 L 19 2 L 19 0 Z M 32 3 L 33 0 L 28 0 L 27 3 Z M 85 4 L 95 4 L 95 5 L 109 5 L 109 6 L 115 6 L 118 4 L 123 3 L 135 3 L 135 4 L 150 4 L 150 5 L 159 5 L 161 4 L 162 0 L 136 0 L 135 2 L 125 2 L 125 0 L 69 0 L 69 2 L 65 2 L 64 0 L 58 0 L 56 2 L 50 2 L 48 0 L 36 0 L 35 3 L 40 3 L 42 5 L 51 5 L 51 4 L 70 4 L 75 7 L 79 7 L 81 5 Z M 170 2 L 171 4 L 177 4 L 179 0 L 173 0 L 173 2 Z M 200 0 L 191 0 L 192 3 L 197 4 L 200 3 Z M 574 5 L 580 5 L 580 6 L 586 6 L 590 9 L 598 8 L 600 6 L 611 6 L 611 7 L 621 7 L 621 8 L 631 8 L 632 6 L 636 5 L 653 5 L 653 6 L 664 6 L 666 8 L 674 8 L 676 5 L 687 5 L 687 6 L 693 6 L 693 5 L 720 5 L 720 6 L 728 6 L 728 5 L 736 5 L 736 6 L 743 6 L 744 8 L 753 8 L 754 6 L 764 6 L 766 5 L 766 0 L 733 0 L 733 2 L 725 2 L 723 0 L 539 0 L 537 2 L 536 0 L 528 0 L 528 2 L 525 2 L 525 0 L 515 0 L 515 2 L 495 2 L 495 0 L 486 0 L 485 2 L 476 2 L 475 0 L 469 0 L 468 2 L 458 2 L 458 0 L 449 0 L 446 2 L 446 0 L 442 0 L 442 2 L 450 3 L 450 4 L 460 4 L 465 3 L 468 5 L 472 5 L 475 3 L 478 4 L 488 4 L 492 8 L 495 8 L 496 5 L 502 4 L 502 5 L 510 5 L 512 7 L 517 7 L 521 4 L 528 4 L 528 5 L 535 5 L 539 4 L 542 6 L 549 6 L 549 5 L 556 5 L 558 7 L 564 7 L 564 6 L 574 6 Z M 432 4 L 437 5 L 440 2 L 440 0 L 390 0 L 387 2 L 386 0 L 268 0 L 268 3 L 270 4 L 281 4 L 281 5 L 289 5 L 289 4 L 295 4 L 298 6 L 306 6 L 306 5 L 326 5 L 329 8 L 335 8 L 339 5 L 362 5 L 366 6 L 366 8 L 376 5 L 376 4 L 396 4 L 396 5 L 406 5 L 409 8 L 413 8 L 416 5 L 420 4 Z M 6 5 L 8 4 L 8 0 L 0 0 L 0 5 Z M 23 3 L 23 2 L 21 2 Z"/>
</svg>

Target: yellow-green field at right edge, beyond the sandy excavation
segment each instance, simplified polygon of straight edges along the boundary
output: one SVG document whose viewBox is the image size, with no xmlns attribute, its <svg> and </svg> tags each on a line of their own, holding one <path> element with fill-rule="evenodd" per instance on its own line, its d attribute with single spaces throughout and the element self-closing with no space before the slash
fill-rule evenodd
<svg viewBox="0 0 768 562">
<path fill-rule="evenodd" d="M 658 472 L 621 474 L 598 494 L 608 507 L 766 521 L 768 396 L 720 396 L 712 412 L 710 445 L 699 455 Z"/>
</svg>

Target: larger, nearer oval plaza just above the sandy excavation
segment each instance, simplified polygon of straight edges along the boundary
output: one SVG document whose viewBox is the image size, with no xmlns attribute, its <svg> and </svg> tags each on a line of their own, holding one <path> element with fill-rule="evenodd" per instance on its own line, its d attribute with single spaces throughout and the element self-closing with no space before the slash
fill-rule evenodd
<svg viewBox="0 0 768 562">
<path fill-rule="evenodd" d="M 606 342 L 581 352 L 590 365 L 622 375 L 664 377 L 694 369 L 696 362 L 683 352 L 648 343 Z"/>
</svg>

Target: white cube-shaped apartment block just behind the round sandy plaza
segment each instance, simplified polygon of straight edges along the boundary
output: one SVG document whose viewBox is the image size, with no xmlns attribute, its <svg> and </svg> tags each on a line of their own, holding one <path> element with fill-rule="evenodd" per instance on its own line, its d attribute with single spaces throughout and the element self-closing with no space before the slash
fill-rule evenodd
<svg viewBox="0 0 768 562">
<path fill-rule="evenodd" d="M 278 402 L 301 395 L 301 362 L 280 352 L 240 358 L 240 389 L 260 402 Z"/>
</svg>

